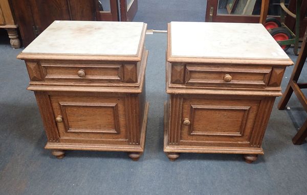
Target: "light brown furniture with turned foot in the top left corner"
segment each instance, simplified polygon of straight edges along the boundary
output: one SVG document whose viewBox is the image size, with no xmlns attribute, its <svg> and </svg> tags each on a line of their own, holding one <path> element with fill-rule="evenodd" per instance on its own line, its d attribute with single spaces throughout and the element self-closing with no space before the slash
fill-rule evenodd
<svg viewBox="0 0 307 195">
<path fill-rule="evenodd" d="M 0 28 L 7 30 L 12 47 L 19 48 L 18 25 L 15 23 L 8 0 L 0 0 Z"/>
</svg>

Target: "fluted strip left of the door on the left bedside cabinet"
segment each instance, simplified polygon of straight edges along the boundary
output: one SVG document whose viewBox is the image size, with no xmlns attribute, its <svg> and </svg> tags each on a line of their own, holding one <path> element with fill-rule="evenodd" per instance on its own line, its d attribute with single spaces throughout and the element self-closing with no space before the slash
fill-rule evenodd
<svg viewBox="0 0 307 195">
<path fill-rule="evenodd" d="M 34 92 L 37 105 L 47 134 L 48 142 L 59 142 L 59 134 L 52 111 L 51 102 L 47 92 Z"/>
</svg>

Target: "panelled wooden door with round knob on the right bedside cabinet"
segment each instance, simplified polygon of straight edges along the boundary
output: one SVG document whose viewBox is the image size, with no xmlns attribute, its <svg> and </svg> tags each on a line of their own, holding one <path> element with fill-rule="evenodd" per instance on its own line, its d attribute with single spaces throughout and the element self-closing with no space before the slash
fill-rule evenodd
<svg viewBox="0 0 307 195">
<path fill-rule="evenodd" d="M 248 147 L 260 102 L 183 95 L 180 145 Z"/>
</svg>

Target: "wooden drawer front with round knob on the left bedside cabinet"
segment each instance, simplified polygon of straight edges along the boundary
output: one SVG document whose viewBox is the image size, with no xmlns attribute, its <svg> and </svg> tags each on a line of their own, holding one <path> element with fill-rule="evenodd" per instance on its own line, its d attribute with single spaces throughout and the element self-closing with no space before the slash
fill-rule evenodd
<svg viewBox="0 0 307 195">
<path fill-rule="evenodd" d="M 121 64 L 41 63 L 45 81 L 121 82 Z"/>
</svg>

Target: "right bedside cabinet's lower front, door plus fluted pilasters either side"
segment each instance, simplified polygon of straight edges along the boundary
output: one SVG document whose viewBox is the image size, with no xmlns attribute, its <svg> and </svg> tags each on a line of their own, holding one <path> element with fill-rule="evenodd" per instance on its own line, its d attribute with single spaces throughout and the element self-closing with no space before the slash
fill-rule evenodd
<svg viewBox="0 0 307 195">
<path fill-rule="evenodd" d="M 258 147 L 267 123 L 267 120 L 260 120 L 267 119 L 274 103 L 274 100 L 267 102 L 261 97 L 180 96 L 171 97 L 170 102 L 169 141 L 175 145 L 251 147 L 257 142 Z M 261 113 L 261 107 L 268 113 Z M 181 114 L 176 114 L 178 112 Z"/>
</svg>

